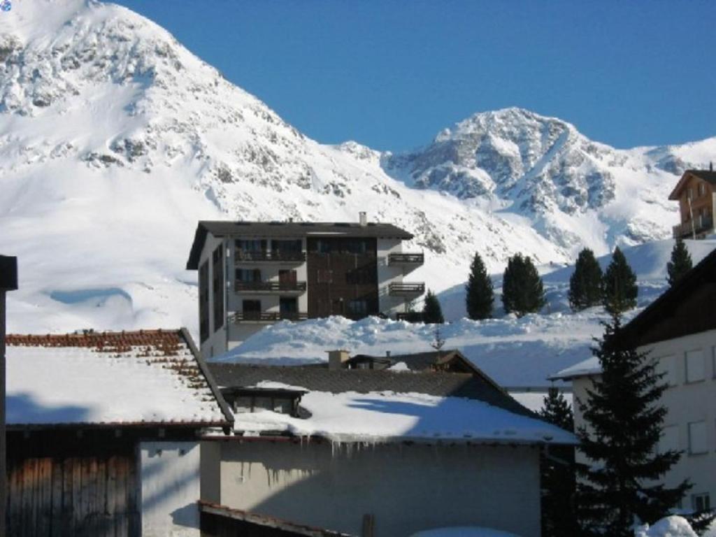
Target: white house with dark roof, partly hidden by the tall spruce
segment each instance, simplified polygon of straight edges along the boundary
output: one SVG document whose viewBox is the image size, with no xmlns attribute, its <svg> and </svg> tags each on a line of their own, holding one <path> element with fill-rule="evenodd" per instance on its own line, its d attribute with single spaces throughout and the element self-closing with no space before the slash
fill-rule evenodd
<svg viewBox="0 0 716 537">
<path fill-rule="evenodd" d="M 716 507 L 716 251 L 624 326 L 624 341 L 657 360 L 668 385 L 659 450 L 683 453 L 665 485 L 688 478 L 694 486 L 682 508 Z M 584 425 L 577 401 L 600 371 L 590 358 L 553 377 L 572 381 L 575 427 Z"/>
</svg>

